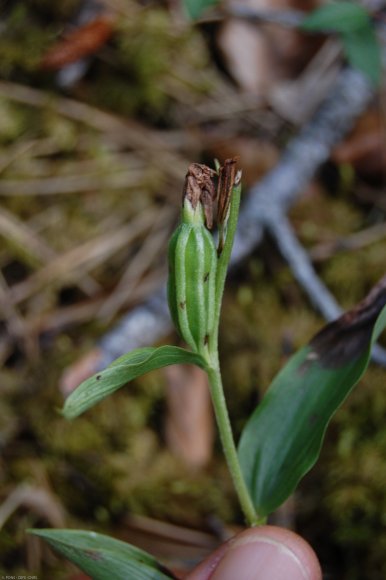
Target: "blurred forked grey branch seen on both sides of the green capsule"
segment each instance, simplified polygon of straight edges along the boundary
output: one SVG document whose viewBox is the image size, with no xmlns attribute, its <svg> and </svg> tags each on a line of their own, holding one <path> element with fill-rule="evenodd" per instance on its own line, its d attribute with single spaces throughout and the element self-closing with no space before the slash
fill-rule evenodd
<svg viewBox="0 0 386 580">
<path fill-rule="evenodd" d="M 367 108 L 372 97 L 373 90 L 366 78 L 354 69 L 344 69 L 329 97 L 289 143 L 277 166 L 251 188 L 240 213 L 231 265 L 247 257 L 260 243 L 264 230 L 268 229 L 310 302 L 327 320 L 339 316 L 341 309 L 318 278 L 286 218 L 286 212 L 328 159 L 333 146 Z M 132 310 L 102 338 L 101 367 L 131 348 L 156 342 L 171 328 L 163 289 Z M 377 362 L 386 365 L 386 354 L 380 347 L 373 354 Z"/>
</svg>

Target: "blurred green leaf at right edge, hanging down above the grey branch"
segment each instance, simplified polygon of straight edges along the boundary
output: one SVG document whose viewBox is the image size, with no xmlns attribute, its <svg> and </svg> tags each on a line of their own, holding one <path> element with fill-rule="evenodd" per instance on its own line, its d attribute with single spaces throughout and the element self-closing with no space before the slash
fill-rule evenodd
<svg viewBox="0 0 386 580">
<path fill-rule="evenodd" d="M 371 25 L 342 35 L 348 62 L 365 74 L 374 86 L 379 86 L 382 75 L 381 50 Z"/>
</svg>

